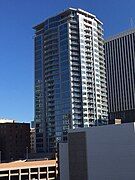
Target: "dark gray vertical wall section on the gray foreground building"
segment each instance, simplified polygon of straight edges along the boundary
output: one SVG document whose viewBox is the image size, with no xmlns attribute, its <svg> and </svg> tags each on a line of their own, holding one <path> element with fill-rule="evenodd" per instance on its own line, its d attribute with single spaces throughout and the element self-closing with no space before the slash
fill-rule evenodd
<svg viewBox="0 0 135 180">
<path fill-rule="evenodd" d="M 68 135 L 69 151 L 69 179 L 87 180 L 87 151 L 86 151 L 86 133 L 76 132 Z"/>
</svg>

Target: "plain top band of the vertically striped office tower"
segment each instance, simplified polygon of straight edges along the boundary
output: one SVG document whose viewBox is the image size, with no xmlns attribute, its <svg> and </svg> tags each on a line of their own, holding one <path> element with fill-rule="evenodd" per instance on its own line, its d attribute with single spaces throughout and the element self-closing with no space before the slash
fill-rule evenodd
<svg viewBox="0 0 135 180">
<path fill-rule="evenodd" d="M 109 42 L 109 41 L 112 41 L 112 40 L 115 40 L 115 39 L 124 37 L 124 36 L 129 35 L 129 34 L 132 34 L 132 33 L 135 33 L 135 28 L 134 28 L 134 29 L 128 29 L 128 30 L 123 31 L 123 32 L 121 32 L 121 33 L 119 33 L 119 34 L 116 34 L 116 35 L 114 35 L 114 36 L 110 36 L 109 38 L 107 38 L 107 39 L 105 40 L 105 42 L 107 43 L 107 42 Z"/>
</svg>

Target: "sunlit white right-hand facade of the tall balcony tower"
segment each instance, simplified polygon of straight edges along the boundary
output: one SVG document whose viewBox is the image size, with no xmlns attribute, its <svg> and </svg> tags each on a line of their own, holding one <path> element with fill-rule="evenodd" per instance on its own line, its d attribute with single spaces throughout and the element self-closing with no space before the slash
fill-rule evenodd
<svg viewBox="0 0 135 180">
<path fill-rule="evenodd" d="M 86 11 L 78 9 L 73 12 L 74 14 L 77 14 L 78 19 L 80 54 L 80 62 L 77 66 L 75 62 L 76 58 L 74 57 L 74 49 L 76 50 L 74 45 L 75 27 L 71 21 L 69 22 L 69 47 L 73 128 L 76 127 L 75 111 L 77 111 L 77 105 L 74 94 L 77 94 L 76 90 L 78 81 L 81 81 L 83 124 L 84 127 L 89 127 L 90 125 L 97 124 L 100 119 L 107 120 L 107 89 L 103 46 L 103 24 L 96 18 L 96 16 Z M 77 68 L 78 70 L 80 68 L 80 79 L 79 75 L 74 78 L 74 76 L 76 76 Z"/>
</svg>

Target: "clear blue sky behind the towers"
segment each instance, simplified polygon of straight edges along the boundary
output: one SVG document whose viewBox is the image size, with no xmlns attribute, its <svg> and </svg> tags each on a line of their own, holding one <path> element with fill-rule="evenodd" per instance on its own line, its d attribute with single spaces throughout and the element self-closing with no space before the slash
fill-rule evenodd
<svg viewBox="0 0 135 180">
<path fill-rule="evenodd" d="M 95 14 L 105 37 L 135 24 L 134 0 L 0 0 L 0 117 L 30 122 L 34 118 L 32 27 L 68 7 Z"/>
</svg>

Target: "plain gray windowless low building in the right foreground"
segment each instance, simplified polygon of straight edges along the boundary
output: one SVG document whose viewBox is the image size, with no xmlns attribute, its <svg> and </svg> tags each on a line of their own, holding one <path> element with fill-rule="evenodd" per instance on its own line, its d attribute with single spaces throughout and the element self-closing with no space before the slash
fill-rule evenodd
<svg viewBox="0 0 135 180">
<path fill-rule="evenodd" d="M 135 179 L 135 123 L 70 130 L 59 147 L 62 180 Z"/>
</svg>

